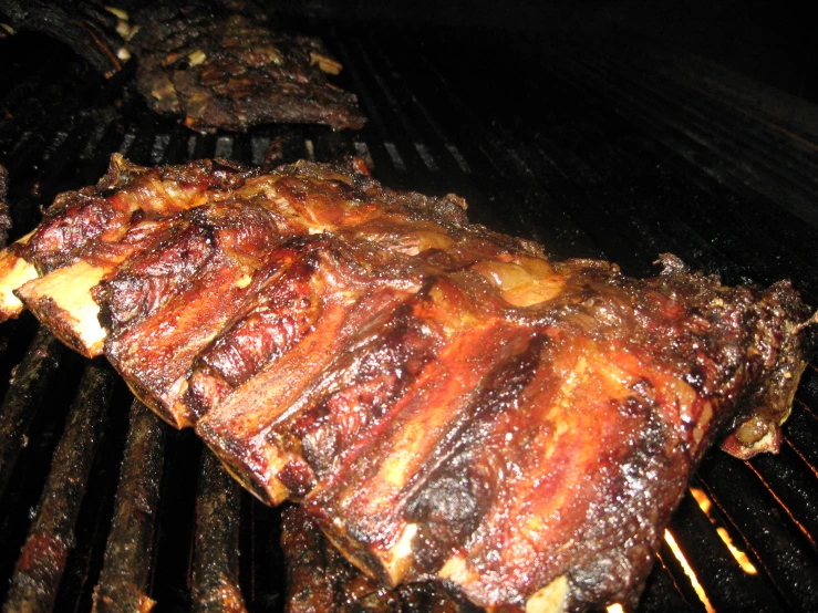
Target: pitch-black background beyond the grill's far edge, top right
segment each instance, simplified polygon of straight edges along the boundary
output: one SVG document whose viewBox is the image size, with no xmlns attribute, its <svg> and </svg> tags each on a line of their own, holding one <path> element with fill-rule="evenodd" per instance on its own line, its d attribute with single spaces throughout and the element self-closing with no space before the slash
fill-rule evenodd
<svg viewBox="0 0 818 613">
<path fill-rule="evenodd" d="M 818 102 L 818 42 L 809 2 L 273 0 L 270 4 L 283 14 L 536 31 L 543 43 L 624 28 Z"/>
</svg>

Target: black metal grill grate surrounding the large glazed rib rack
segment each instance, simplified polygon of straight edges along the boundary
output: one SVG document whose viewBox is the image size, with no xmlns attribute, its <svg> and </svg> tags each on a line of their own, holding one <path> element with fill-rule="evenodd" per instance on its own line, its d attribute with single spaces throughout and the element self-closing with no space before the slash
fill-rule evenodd
<svg viewBox="0 0 818 613">
<path fill-rule="evenodd" d="M 0 163 L 12 239 L 113 152 L 139 164 L 363 157 L 384 184 L 467 198 L 474 221 L 557 257 L 655 272 L 673 252 L 727 282 L 789 278 L 818 305 L 818 108 L 631 32 L 587 40 L 318 22 L 370 123 L 193 133 L 68 48 L 0 41 Z M 132 402 L 102 361 L 25 314 L 0 326 L 0 601 L 6 610 L 281 611 L 278 518 L 189 432 Z M 640 611 L 818 610 L 818 372 L 777 457 L 713 450 L 674 517 Z M 743 570 L 724 537 L 743 552 Z M 22 550 L 21 548 L 25 548 Z M 737 554 L 741 558 L 741 554 Z M 694 574 L 696 581 L 691 579 Z M 694 584 L 695 583 L 695 584 Z M 706 601 L 706 604 L 705 604 Z"/>
</svg>

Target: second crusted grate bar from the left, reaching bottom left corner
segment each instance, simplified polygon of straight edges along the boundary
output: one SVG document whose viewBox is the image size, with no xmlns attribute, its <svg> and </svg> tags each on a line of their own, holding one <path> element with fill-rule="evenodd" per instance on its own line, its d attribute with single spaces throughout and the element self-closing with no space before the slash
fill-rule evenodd
<svg viewBox="0 0 818 613">
<path fill-rule="evenodd" d="M 102 361 L 85 368 L 54 450 L 37 518 L 17 562 L 4 611 L 50 611 L 55 604 L 115 382 L 116 374 Z"/>
</svg>

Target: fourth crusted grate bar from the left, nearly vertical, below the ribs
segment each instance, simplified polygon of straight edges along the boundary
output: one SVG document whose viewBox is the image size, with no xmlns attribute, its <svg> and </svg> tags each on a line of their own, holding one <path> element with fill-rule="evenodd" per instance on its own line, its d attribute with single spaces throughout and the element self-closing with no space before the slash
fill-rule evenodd
<svg viewBox="0 0 818 613">
<path fill-rule="evenodd" d="M 246 611 L 239 574 L 241 490 L 218 458 L 205 453 L 196 500 L 193 599 L 201 612 Z"/>
</svg>

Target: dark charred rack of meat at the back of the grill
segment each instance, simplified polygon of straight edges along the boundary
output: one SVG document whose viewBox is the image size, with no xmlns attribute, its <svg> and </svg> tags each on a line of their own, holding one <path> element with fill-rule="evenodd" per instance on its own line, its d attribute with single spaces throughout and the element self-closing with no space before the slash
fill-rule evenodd
<svg viewBox="0 0 818 613">
<path fill-rule="evenodd" d="M 290 34 L 263 15 L 194 2 L 134 15 L 128 46 L 148 106 L 199 132 L 245 132 L 267 123 L 363 127 L 353 94 L 329 82 L 341 64 L 318 39 Z"/>
</svg>

